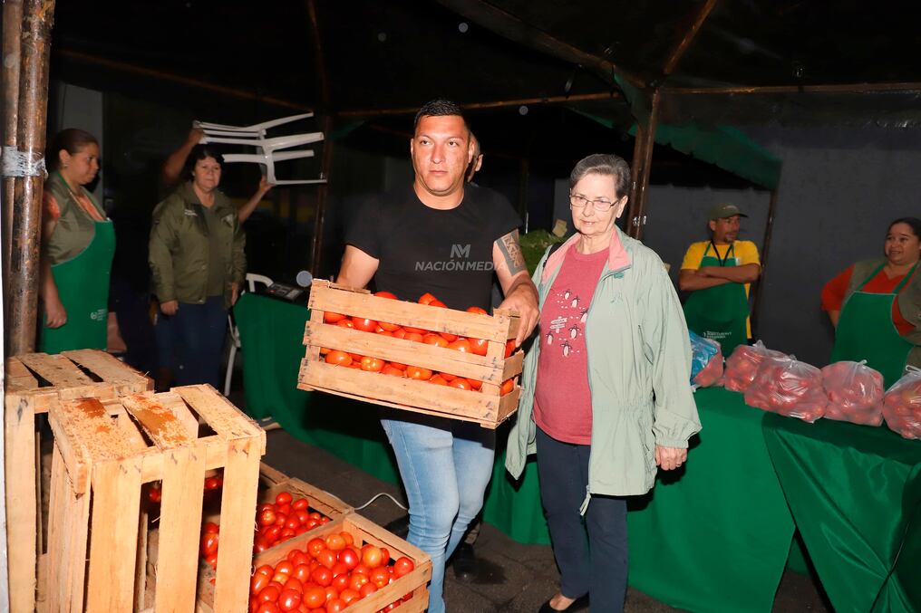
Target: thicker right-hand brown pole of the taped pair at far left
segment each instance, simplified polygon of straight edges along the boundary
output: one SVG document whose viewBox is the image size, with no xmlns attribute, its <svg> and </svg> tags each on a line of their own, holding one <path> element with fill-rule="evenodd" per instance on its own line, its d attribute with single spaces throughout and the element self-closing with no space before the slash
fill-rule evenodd
<svg viewBox="0 0 921 613">
<path fill-rule="evenodd" d="M 22 19 L 17 147 L 35 162 L 44 155 L 48 114 L 48 57 L 54 0 L 26 0 Z M 39 312 L 41 174 L 16 179 L 9 265 L 9 354 L 35 349 Z"/>
</svg>

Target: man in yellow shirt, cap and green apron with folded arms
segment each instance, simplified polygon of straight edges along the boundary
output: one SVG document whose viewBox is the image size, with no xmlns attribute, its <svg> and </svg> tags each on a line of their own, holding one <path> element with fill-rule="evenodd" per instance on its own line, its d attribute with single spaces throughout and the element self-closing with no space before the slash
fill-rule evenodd
<svg viewBox="0 0 921 613">
<path fill-rule="evenodd" d="M 710 209 L 710 239 L 693 243 L 684 254 L 678 286 L 691 292 L 684 303 L 688 329 L 714 341 L 723 355 L 752 338 L 748 295 L 761 275 L 758 248 L 738 240 L 742 214 L 735 204 Z"/>
</svg>

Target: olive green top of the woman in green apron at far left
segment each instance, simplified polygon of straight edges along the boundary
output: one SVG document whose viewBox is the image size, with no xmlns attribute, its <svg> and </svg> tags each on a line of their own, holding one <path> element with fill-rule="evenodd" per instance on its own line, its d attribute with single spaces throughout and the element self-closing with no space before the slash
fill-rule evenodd
<svg viewBox="0 0 921 613">
<path fill-rule="evenodd" d="M 87 249 L 89 243 L 93 242 L 93 237 L 96 236 L 96 220 L 84 210 L 79 202 L 76 202 L 76 198 L 64 183 L 64 178 L 59 172 L 53 172 L 48 177 L 44 189 L 54 197 L 58 210 L 61 212 L 52 236 L 42 245 L 45 256 L 53 266 L 73 260 L 83 253 L 84 249 Z M 80 190 L 105 219 L 105 211 L 93 200 L 92 194 L 82 187 Z"/>
</svg>

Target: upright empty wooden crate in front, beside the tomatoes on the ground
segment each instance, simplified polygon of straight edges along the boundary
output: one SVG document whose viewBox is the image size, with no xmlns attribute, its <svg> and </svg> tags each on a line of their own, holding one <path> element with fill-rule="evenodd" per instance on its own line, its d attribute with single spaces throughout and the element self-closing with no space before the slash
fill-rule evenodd
<svg viewBox="0 0 921 613">
<path fill-rule="evenodd" d="M 195 606 L 204 487 L 221 468 L 216 610 L 247 607 L 252 509 L 265 433 L 211 386 L 119 399 L 59 400 L 48 522 L 50 611 L 146 606 L 146 484 L 160 481 L 154 610 Z"/>
</svg>

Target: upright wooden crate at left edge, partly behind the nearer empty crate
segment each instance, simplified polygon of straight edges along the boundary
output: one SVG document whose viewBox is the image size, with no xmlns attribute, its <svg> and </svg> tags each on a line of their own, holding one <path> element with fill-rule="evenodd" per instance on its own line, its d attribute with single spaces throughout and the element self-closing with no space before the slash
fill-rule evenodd
<svg viewBox="0 0 921 613">
<path fill-rule="evenodd" d="M 47 517 L 41 513 L 42 462 L 40 432 L 35 416 L 59 399 L 117 399 L 153 389 L 153 381 L 95 349 L 28 353 L 6 360 L 4 443 L 6 471 L 6 544 L 9 598 L 12 611 L 35 610 L 36 595 L 44 596 L 38 568 Z M 50 472 L 47 464 L 45 471 Z M 38 588 L 38 589 L 37 589 Z"/>
</svg>

